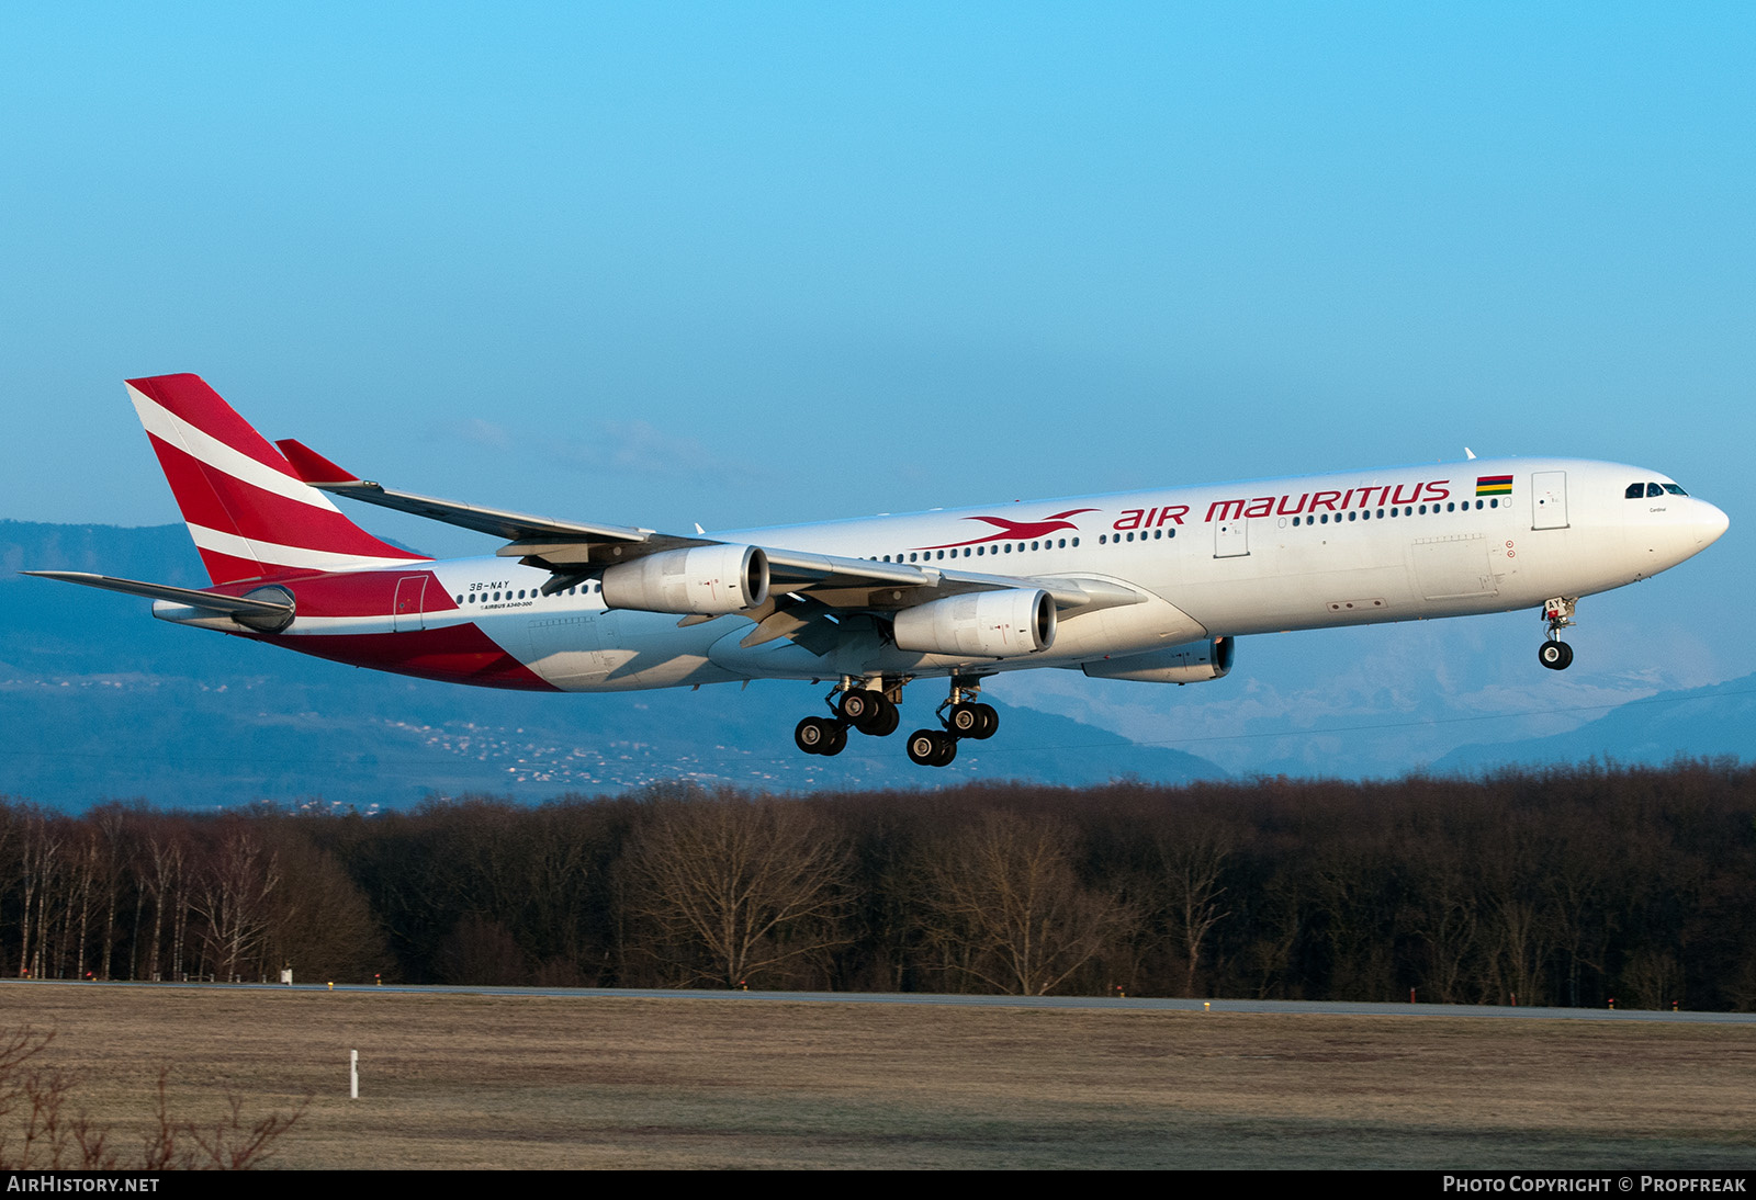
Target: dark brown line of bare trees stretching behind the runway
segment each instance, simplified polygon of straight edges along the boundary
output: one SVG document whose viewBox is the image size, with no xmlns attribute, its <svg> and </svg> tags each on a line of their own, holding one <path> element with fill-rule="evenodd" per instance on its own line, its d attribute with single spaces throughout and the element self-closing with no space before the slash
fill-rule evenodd
<svg viewBox="0 0 1756 1200">
<path fill-rule="evenodd" d="M 1756 1007 L 1756 770 L 0 802 L 19 975 Z"/>
</svg>

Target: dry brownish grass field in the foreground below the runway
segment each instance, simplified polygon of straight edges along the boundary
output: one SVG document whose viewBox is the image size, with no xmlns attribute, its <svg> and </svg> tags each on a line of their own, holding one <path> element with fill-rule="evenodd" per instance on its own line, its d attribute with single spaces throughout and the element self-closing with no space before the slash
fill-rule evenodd
<svg viewBox="0 0 1756 1200">
<path fill-rule="evenodd" d="M 123 1140 L 270 1165 L 1756 1167 L 1756 1026 L 0 986 Z M 348 1098 L 348 1051 L 360 1098 Z"/>
</svg>

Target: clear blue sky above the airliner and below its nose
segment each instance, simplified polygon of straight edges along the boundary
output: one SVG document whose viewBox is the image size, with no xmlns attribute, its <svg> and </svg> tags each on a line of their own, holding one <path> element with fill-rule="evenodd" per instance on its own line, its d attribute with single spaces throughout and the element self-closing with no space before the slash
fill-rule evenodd
<svg viewBox="0 0 1756 1200">
<path fill-rule="evenodd" d="M 119 384 L 170 370 L 397 486 L 658 528 L 1579 454 L 1733 528 L 1582 605 L 1566 677 L 1521 614 L 1006 695 L 1401 712 L 1389 763 L 1756 670 L 1749 5 L 67 5 L 0 56 L 4 516 L 176 519 Z"/>
</svg>

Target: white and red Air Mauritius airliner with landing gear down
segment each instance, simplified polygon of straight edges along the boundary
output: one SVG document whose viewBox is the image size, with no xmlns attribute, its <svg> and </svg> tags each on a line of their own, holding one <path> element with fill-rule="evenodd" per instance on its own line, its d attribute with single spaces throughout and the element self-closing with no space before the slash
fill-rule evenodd
<svg viewBox="0 0 1756 1200">
<path fill-rule="evenodd" d="M 752 679 L 831 684 L 794 740 L 838 754 L 897 730 L 945 681 L 908 756 L 992 737 L 982 684 L 1029 667 L 1191 684 L 1236 639 L 1535 609 L 1538 661 L 1573 660 L 1580 596 L 1698 554 L 1724 512 L 1644 467 L 1461 463 L 1011 502 L 706 533 L 558 521 L 360 479 L 270 444 L 198 375 L 128 381 L 211 588 L 25 572 L 153 600 L 153 616 L 339 663 L 536 691 Z M 504 542 L 435 561 L 330 496 Z"/>
</svg>

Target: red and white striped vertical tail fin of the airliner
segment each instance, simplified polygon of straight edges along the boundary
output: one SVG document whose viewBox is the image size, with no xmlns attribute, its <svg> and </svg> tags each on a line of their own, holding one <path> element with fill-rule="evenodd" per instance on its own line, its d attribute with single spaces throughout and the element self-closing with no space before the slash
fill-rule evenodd
<svg viewBox="0 0 1756 1200">
<path fill-rule="evenodd" d="M 344 518 L 200 375 L 130 379 L 128 398 L 214 582 L 425 561 Z"/>
</svg>

